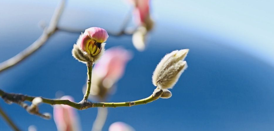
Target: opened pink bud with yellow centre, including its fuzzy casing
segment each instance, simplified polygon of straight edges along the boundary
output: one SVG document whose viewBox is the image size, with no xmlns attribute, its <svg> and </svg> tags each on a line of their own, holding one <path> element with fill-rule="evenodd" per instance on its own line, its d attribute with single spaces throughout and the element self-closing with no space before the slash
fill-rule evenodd
<svg viewBox="0 0 274 131">
<path fill-rule="evenodd" d="M 107 38 L 108 33 L 102 28 L 86 29 L 73 46 L 72 54 L 80 62 L 95 62 L 103 54 Z"/>
</svg>

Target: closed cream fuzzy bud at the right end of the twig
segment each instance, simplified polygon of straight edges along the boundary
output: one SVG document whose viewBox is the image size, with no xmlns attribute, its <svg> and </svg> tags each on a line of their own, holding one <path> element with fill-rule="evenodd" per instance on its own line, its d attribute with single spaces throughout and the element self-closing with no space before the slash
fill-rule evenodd
<svg viewBox="0 0 274 131">
<path fill-rule="evenodd" d="M 183 61 L 189 49 L 175 50 L 160 61 L 153 72 L 152 82 L 160 89 L 173 88 L 182 72 L 187 68 L 187 62 Z"/>
</svg>

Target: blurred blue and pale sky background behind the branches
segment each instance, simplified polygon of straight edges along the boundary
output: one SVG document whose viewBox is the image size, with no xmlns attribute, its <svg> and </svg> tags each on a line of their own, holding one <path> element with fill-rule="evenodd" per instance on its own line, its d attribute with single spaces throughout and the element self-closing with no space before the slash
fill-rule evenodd
<svg viewBox="0 0 274 131">
<path fill-rule="evenodd" d="M 49 23 L 59 1 L 0 0 L 0 62 L 33 43 Z M 133 53 L 109 102 L 145 98 L 154 90 L 151 76 L 166 54 L 190 49 L 188 68 L 169 99 L 147 105 L 108 108 L 104 131 L 123 121 L 137 131 L 273 131 L 274 1 L 151 0 L 155 21 L 147 49 L 138 52 L 131 36 L 110 36 L 106 48 L 122 46 Z M 97 26 L 119 32 L 132 7 L 124 0 L 69 0 L 59 25 L 77 29 Z M 80 34 L 58 31 L 34 55 L 0 74 L 0 88 L 10 93 L 55 98 L 57 91 L 82 100 L 86 67 L 71 50 Z M 57 130 L 53 119 L 28 114 L 2 99 L 1 107 L 27 130 Z M 42 104 L 41 112 L 50 112 Z M 91 130 L 95 108 L 77 111 L 83 131 Z M 0 119 L 0 130 L 11 128 Z"/>
</svg>

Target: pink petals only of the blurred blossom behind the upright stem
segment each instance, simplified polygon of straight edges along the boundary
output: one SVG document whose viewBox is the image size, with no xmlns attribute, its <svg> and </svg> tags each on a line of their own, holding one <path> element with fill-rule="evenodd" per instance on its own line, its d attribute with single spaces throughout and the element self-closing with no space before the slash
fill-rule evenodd
<svg viewBox="0 0 274 131">
<path fill-rule="evenodd" d="M 127 61 L 132 55 L 122 47 L 112 47 L 107 49 L 101 59 L 94 65 L 93 71 L 103 79 L 110 79 L 116 82 L 125 71 Z"/>
</svg>

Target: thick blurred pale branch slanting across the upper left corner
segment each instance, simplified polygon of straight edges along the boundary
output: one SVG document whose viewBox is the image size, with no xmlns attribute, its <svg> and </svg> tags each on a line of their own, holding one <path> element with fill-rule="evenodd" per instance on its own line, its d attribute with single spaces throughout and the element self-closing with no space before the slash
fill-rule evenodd
<svg viewBox="0 0 274 131">
<path fill-rule="evenodd" d="M 55 9 L 53 16 L 51 17 L 51 21 L 49 26 L 46 27 L 42 33 L 42 35 L 29 47 L 24 49 L 19 54 L 13 56 L 12 58 L 0 63 L 0 72 L 18 64 L 20 61 L 23 61 L 25 58 L 33 54 L 37 51 L 46 41 L 56 32 L 56 27 L 61 17 L 61 14 L 64 10 L 66 0 L 62 0 L 60 5 Z"/>
</svg>

